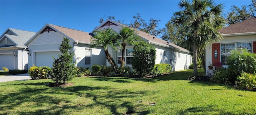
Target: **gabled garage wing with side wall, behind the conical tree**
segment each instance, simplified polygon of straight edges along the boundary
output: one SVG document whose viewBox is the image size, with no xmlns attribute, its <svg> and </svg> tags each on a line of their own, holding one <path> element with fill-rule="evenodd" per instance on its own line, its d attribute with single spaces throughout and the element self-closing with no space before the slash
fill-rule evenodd
<svg viewBox="0 0 256 115">
<path fill-rule="evenodd" d="M 91 65 L 106 65 L 106 57 L 103 48 L 90 48 L 91 35 L 88 32 L 46 24 L 28 42 L 30 54 L 28 67 L 49 66 L 52 67 L 53 57 L 61 54 L 58 49 L 63 38 L 70 40 L 71 49 L 74 52 L 74 60 L 78 67 L 91 67 Z"/>
</svg>

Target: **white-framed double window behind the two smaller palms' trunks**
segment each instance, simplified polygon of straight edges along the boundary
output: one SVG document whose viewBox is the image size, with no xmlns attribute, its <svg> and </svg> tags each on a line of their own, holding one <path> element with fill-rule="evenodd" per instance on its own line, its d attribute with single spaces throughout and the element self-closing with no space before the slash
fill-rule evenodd
<svg viewBox="0 0 256 115">
<path fill-rule="evenodd" d="M 132 51 L 133 49 L 132 48 L 127 48 L 125 51 L 124 51 L 124 64 L 126 65 L 132 65 L 132 57 L 133 57 L 133 54 L 132 54 Z M 117 51 L 117 64 L 121 64 L 122 62 L 122 50 L 121 49 L 118 49 Z"/>
</svg>

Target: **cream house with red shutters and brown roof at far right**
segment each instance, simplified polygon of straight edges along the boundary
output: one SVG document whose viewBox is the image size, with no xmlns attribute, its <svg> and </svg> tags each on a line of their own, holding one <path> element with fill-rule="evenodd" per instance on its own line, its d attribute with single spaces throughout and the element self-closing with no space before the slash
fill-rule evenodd
<svg viewBox="0 0 256 115">
<path fill-rule="evenodd" d="M 206 47 L 206 73 L 208 62 L 222 63 L 223 67 L 228 67 L 227 57 L 232 50 L 246 48 L 249 52 L 256 53 L 256 17 L 232 24 L 218 31 L 224 39 Z"/>
</svg>

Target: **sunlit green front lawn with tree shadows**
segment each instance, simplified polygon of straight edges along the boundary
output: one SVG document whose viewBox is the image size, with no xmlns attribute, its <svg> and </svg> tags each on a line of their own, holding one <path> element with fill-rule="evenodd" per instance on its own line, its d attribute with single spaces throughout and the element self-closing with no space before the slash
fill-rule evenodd
<svg viewBox="0 0 256 115">
<path fill-rule="evenodd" d="M 179 80 L 189 74 L 192 70 L 147 79 L 77 77 L 70 81 L 75 84 L 70 87 L 48 87 L 53 82 L 50 79 L 3 82 L 0 114 L 256 114 L 256 92 L 212 82 Z"/>
</svg>

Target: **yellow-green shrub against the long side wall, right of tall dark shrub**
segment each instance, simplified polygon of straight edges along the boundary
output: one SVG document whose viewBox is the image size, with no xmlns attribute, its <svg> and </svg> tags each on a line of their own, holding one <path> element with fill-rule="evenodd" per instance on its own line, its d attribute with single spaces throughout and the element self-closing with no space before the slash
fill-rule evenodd
<svg viewBox="0 0 256 115">
<path fill-rule="evenodd" d="M 164 73 L 170 73 L 172 70 L 170 64 L 156 64 L 154 65 L 154 69 L 151 71 L 152 75 L 161 75 Z"/>
</svg>

